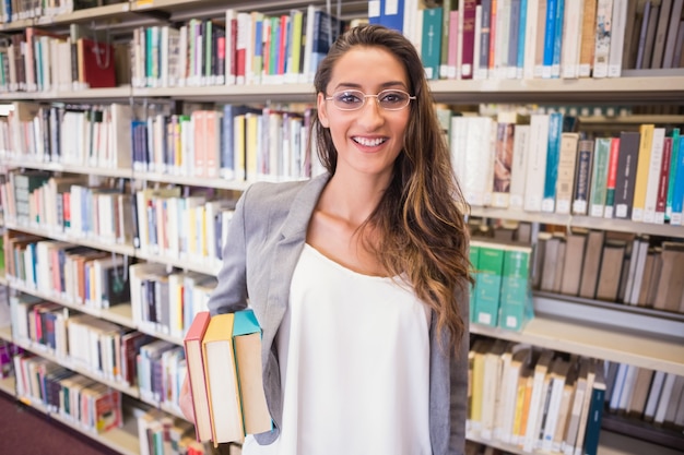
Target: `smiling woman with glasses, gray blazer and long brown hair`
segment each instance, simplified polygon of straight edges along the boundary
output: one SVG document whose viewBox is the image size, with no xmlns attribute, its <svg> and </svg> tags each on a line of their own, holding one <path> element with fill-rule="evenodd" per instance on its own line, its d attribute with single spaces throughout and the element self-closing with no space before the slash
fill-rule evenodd
<svg viewBox="0 0 684 455">
<path fill-rule="evenodd" d="M 244 193 L 209 302 L 263 330 L 274 429 L 243 453 L 461 454 L 468 234 L 421 60 L 363 25 L 315 86 L 328 172 Z"/>
</svg>

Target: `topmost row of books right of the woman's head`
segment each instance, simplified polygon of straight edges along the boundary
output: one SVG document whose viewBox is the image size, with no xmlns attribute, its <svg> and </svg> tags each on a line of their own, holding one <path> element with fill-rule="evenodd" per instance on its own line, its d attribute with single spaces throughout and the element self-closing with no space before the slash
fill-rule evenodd
<svg viewBox="0 0 684 455">
<path fill-rule="evenodd" d="M 682 3 L 627 0 L 368 2 L 399 29 L 429 79 L 617 77 L 623 69 L 682 68 Z"/>
</svg>

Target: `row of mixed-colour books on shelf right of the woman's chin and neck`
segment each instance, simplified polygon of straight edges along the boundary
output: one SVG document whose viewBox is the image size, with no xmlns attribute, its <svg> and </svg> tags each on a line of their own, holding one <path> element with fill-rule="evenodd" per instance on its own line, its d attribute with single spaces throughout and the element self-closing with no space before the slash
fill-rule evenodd
<svg viewBox="0 0 684 455">
<path fill-rule="evenodd" d="M 682 224 L 684 142 L 679 128 L 640 124 L 616 136 L 576 132 L 559 111 L 451 116 L 453 168 L 474 206 Z M 581 127 L 579 127 L 581 128 Z"/>
</svg>

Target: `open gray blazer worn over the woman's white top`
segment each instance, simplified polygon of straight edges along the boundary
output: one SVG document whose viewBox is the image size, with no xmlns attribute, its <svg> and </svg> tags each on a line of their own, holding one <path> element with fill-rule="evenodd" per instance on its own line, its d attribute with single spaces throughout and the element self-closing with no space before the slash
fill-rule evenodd
<svg viewBox="0 0 684 455">
<path fill-rule="evenodd" d="M 245 191 L 228 229 L 219 285 L 209 300 L 213 315 L 244 309 L 249 299 L 263 330 L 263 386 L 274 429 L 256 435 L 260 444 L 269 444 L 279 435 L 283 395 L 273 340 L 285 314 L 309 219 L 329 178 L 325 175 L 308 181 L 255 183 Z M 468 295 L 459 297 L 468 321 Z M 464 452 L 465 443 L 468 333 L 458 358 L 445 355 L 448 344 L 438 336 L 435 319 L 431 326 L 431 441 L 433 454 L 457 455 Z"/>
</svg>

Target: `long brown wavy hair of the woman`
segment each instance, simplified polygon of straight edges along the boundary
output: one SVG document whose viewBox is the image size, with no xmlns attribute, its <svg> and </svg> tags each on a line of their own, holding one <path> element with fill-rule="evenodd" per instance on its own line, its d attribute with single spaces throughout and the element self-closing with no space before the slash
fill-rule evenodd
<svg viewBox="0 0 684 455">
<path fill-rule="evenodd" d="M 359 25 L 344 33 L 320 63 L 314 85 L 326 94 L 338 60 L 354 47 L 381 47 L 402 62 L 409 91 L 416 99 L 409 108 L 402 153 L 394 161 L 389 188 L 365 226 L 379 235 L 368 244 L 392 276 L 406 276 L 417 297 L 437 316 L 437 327 L 447 330 L 458 350 L 465 330 L 458 295 L 468 298 L 469 232 L 462 209 L 468 209 L 451 167 L 447 144 L 434 108 L 421 58 L 398 32 L 380 25 Z M 312 121 L 318 156 L 333 175 L 338 152 L 330 131 L 317 116 Z"/>
</svg>

